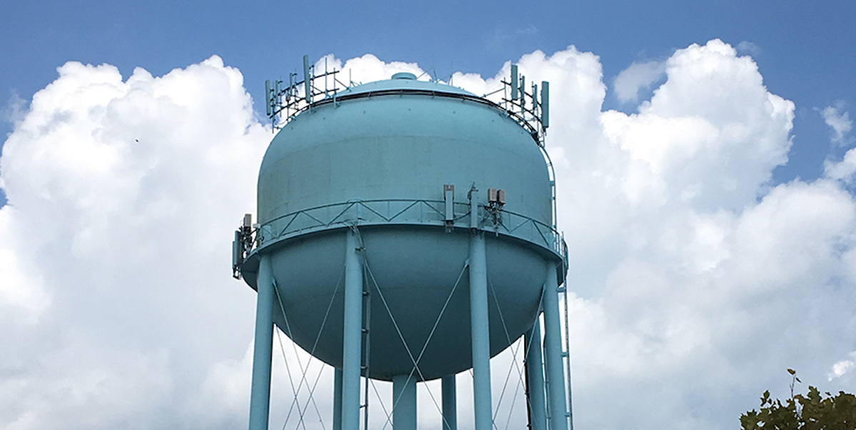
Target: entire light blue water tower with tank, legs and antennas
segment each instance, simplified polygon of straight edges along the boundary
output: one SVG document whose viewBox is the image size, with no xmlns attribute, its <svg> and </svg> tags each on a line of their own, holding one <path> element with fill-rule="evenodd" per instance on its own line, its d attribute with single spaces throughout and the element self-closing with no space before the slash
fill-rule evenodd
<svg viewBox="0 0 856 430">
<path fill-rule="evenodd" d="M 266 83 L 279 132 L 257 224 L 235 232 L 235 277 L 258 291 L 250 429 L 268 427 L 277 325 L 336 368 L 335 430 L 360 430 L 361 378 L 392 381 L 395 430 L 416 428 L 416 384 L 442 379 L 456 430 L 455 374 L 470 368 L 475 428 L 490 430 L 490 357 L 520 336 L 531 427 L 568 430 L 548 83 L 526 87 L 512 66 L 479 97 L 409 73 L 318 72 L 304 57 L 302 80 Z"/>
</svg>

